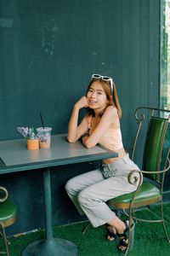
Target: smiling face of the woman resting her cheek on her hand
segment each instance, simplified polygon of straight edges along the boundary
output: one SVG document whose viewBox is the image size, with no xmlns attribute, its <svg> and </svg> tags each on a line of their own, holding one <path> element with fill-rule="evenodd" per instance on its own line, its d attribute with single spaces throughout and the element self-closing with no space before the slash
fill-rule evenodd
<svg viewBox="0 0 170 256">
<path fill-rule="evenodd" d="M 97 80 L 90 85 L 87 93 L 88 107 L 103 110 L 107 106 L 107 97 L 102 84 Z"/>
</svg>

